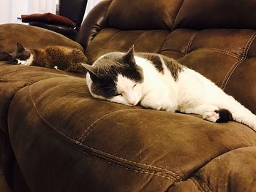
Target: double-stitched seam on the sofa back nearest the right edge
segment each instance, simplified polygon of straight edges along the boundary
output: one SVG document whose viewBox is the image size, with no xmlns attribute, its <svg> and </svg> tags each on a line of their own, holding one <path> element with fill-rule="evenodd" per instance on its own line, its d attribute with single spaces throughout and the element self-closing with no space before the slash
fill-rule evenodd
<svg viewBox="0 0 256 192">
<path fill-rule="evenodd" d="M 239 64 L 241 64 L 242 61 L 244 61 L 247 57 L 248 51 L 249 51 L 249 47 L 251 47 L 253 40 L 255 39 L 255 35 L 256 33 L 252 34 L 252 36 L 249 38 L 248 42 L 246 43 L 245 49 L 244 49 L 244 53 L 241 57 L 240 61 L 237 61 L 235 64 L 233 64 L 233 66 L 231 66 L 230 70 L 227 72 L 223 82 L 222 82 L 222 90 L 224 91 L 226 86 L 227 86 L 227 82 L 230 80 L 230 77 L 232 76 L 233 72 L 236 70 L 236 68 L 238 67 Z"/>
</svg>

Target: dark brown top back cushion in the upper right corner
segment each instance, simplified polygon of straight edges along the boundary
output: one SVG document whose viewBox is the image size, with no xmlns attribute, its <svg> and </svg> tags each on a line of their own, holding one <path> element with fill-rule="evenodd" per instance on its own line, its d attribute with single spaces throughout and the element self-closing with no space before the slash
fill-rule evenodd
<svg viewBox="0 0 256 192">
<path fill-rule="evenodd" d="M 172 0 L 170 0 L 172 1 Z M 184 1 L 173 28 L 256 28 L 256 1 Z"/>
</svg>

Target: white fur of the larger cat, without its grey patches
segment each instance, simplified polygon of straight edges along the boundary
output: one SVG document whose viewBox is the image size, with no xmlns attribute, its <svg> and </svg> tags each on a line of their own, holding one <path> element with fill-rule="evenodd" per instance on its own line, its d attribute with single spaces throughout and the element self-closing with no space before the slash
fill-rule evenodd
<svg viewBox="0 0 256 192">
<path fill-rule="evenodd" d="M 143 83 L 137 83 L 133 88 L 136 82 L 119 74 L 116 86 L 118 93 L 121 93 L 122 96 L 115 96 L 108 99 L 109 101 L 126 105 L 136 105 L 140 101 L 143 107 L 170 112 L 178 110 L 195 113 L 211 122 L 216 122 L 219 119 L 219 115 L 214 111 L 223 108 L 232 113 L 233 120 L 244 123 L 256 131 L 256 115 L 203 75 L 185 67 L 178 74 L 178 80 L 175 81 L 165 65 L 163 65 L 164 74 L 162 74 L 155 69 L 151 61 L 145 58 L 135 56 L 135 61 L 143 69 Z M 90 89 L 89 74 L 87 74 L 86 80 Z M 91 95 L 105 99 L 94 93 Z"/>
</svg>

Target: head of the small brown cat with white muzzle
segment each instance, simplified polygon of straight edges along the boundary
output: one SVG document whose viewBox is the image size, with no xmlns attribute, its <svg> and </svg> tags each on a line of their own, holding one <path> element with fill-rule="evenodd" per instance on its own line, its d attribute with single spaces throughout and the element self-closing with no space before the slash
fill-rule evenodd
<svg viewBox="0 0 256 192">
<path fill-rule="evenodd" d="M 23 47 L 20 43 L 17 43 L 17 49 L 13 53 L 4 53 L 9 61 L 15 62 L 16 64 L 31 65 L 32 54 L 29 49 Z"/>
</svg>

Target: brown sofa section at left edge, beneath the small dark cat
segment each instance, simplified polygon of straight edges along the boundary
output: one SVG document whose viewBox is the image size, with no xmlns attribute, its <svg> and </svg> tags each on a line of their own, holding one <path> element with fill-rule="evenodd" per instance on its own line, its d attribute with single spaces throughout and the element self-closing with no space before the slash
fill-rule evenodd
<svg viewBox="0 0 256 192">
<path fill-rule="evenodd" d="M 12 153 L 10 145 L 7 116 L 12 98 L 18 91 L 34 82 L 70 76 L 83 77 L 84 75 L 37 66 L 17 66 L 0 62 L 0 163 L 10 185 L 12 185 L 13 174 L 10 170 L 14 169 L 15 155 Z"/>
</svg>

